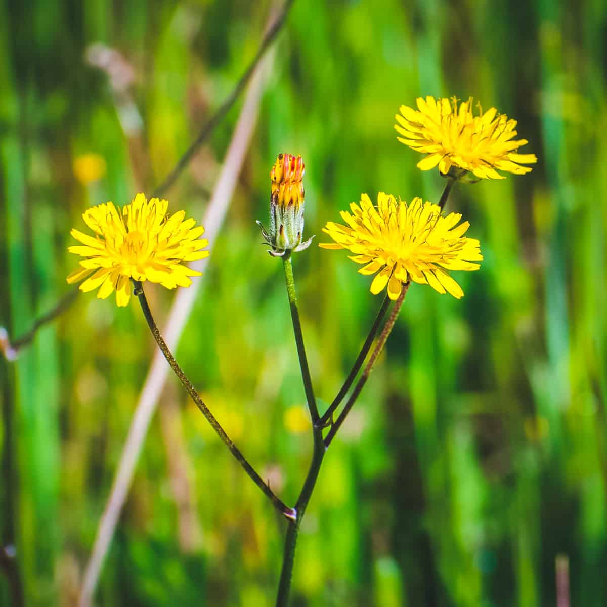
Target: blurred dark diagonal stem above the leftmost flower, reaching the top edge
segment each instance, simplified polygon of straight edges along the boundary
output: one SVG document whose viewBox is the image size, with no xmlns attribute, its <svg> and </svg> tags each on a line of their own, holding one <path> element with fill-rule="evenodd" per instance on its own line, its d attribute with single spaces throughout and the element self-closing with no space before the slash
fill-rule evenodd
<svg viewBox="0 0 607 607">
<path fill-rule="evenodd" d="M 257 64 L 262 59 L 266 50 L 268 50 L 270 44 L 274 41 L 274 39 L 282 29 L 283 24 L 287 20 L 287 15 L 293 2 L 294 0 L 287 0 L 285 2 L 285 5 L 280 11 L 280 14 L 277 16 L 273 24 L 270 25 L 270 27 L 265 33 L 265 36 L 263 36 L 262 43 L 260 44 L 259 50 L 257 50 L 257 54 L 254 56 L 253 61 L 251 61 L 249 66 L 246 68 L 245 73 L 240 76 L 240 80 L 236 83 L 236 86 L 229 94 L 229 97 L 226 98 L 226 100 L 221 104 L 217 112 L 212 115 L 212 117 L 205 124 L 205 126 L 200 129 L 200 133 L 198 133 L 198 136 L 195 138 L 194 141 L 192 141 L 189 148 L 186 149 L 185 153 L 181 156 L 181 158 L 175 165 L 175 168 L 166 176 L 166 178 L 164 178 L 164 181 L 154 190 L 154 196 L 160 196 L 163 192 L 166 192 L 166 190 L 168 190 L 173 185 L 181 171 L 185 169 L 189 161 L 192 159 L 192 156 L 194 156 L 198 148 L 200 148 L 203 141 L 206 140 L 206 138 L 211 134 L 215 127 L 223 120 L 223 117 L 225 117 L 225 115 L 229 112 L 229 109 L 234 105 L 234 102 L 237 100 L 240 93 L 242 93 L 243 89 L 245 88 L 246 83 L 248 83 L 248 81 L 251 79 L 251 76 L 253 76 L 253 72 L 255 71 Z"/>
</svg>

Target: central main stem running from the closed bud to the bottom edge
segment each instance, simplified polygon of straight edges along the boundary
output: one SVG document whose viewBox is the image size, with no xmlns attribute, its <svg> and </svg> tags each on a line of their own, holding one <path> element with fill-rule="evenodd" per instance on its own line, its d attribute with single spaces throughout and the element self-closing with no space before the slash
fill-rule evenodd
<svg viewBox="0 0 607 607">
<path fill-rule="evenodd" d="M 285 268 L 285 281 L 287 283 L 287 294 L 289 296 L 289 304 L 291 308 L 291 319 L 293 319 L 293 332 L 297 344 L 297 354 L 299 356 L 299 366 L 304 380 L 304 388 L 310 416 L 312 418 L 312 435 L 314 438 L 314 451 L 310 469 L 304 482 L 304 486 L 297 498 L 295 511 L 297 517 L 289 522 L 287 529 L 287 537 L 285 538 L 285 551 L 283 554 L 282 571 L 280 572 L 280 583 L 278 587 L 278 595 L 276 598 L 277 607 L 287 607 L 289 593 L 291 591 L 291 578 L 293 576 L 293 563 L 295 561 L 295 550 L 297 548 L 297 537 L 299 537 L 299 527 L 304 518 L 305 510 L 308 507 L 308 502 L 316 486 L 322 459 L 325 456 L 325 444 L 322 439 L 322 424 L 316 407 L 316 399 L 314 398 L 314 390 L 312 380 L 310 378 L 310 369 L 308 368 L 308 360 L 305 355 L 304 336 L 299 320 L 299 309 L 297 307 L 297 294 L 295 291 L 295 280 L 293 277 L 293 263 L 291 261 L 291 253 L 287 251 L 282 258 Z"/>
</svg>

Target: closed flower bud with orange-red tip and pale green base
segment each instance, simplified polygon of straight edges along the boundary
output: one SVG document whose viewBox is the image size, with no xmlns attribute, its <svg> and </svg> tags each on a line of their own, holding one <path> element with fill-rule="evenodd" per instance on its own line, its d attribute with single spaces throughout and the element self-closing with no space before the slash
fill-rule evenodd
<svg viewBox="0 0 607 607">
<path fill-rule="evenodd" d="M 272 247 L 268 251 L 281 257 L 286 251 L 303 251 L 312 238 L 302 242 L 304 234 L 304 160 L 301 156 L 279 154 L 270 171 L 270 229 L 262 230 L 265 242 Z"/>
</svg>

